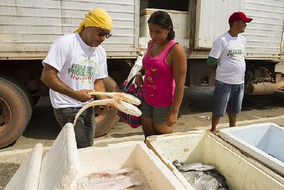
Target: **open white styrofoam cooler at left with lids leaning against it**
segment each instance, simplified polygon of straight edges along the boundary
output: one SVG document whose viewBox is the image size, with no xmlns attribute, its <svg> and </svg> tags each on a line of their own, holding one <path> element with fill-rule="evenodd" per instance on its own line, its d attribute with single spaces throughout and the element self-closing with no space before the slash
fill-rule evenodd
<svg viewBox="0 0 284 190">
<path fill-rule="evenodd" d="M 43 159 L 42 155 L 42 144 L 38 144 L 6 189 L 78 189 L 76 183 L 81 177 L 129 167 L 140 170 L 151 189 L 185 189 L 143 142 L 77 149 L 71 123 L 62 128 Z"/>
</svg>

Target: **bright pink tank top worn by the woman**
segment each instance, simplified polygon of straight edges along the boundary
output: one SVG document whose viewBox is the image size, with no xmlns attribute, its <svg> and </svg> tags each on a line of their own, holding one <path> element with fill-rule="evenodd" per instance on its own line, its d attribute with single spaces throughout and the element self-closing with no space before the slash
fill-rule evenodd
<svg viewBox="0 0 284 190">
<path fill-rule="evenodd" d="M 173 79 L 173 69 L 167 63 L 167 55 L 176 41 L 172 40 L 168 46 L 155 57 L 144 56 L 142 63 L 145 68 L 145 78 L 143 83 L 143 98 L 152 106 L 165 107 L 173 105 L 173 95 L 175 93 L 175 80 Z M 154 43 L 148 48 L 151 50 Z"/>
</svg>

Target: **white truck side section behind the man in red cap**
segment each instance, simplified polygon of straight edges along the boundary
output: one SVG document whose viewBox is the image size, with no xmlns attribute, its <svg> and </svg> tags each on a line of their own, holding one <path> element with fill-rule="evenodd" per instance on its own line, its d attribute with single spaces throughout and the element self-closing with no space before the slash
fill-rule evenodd
<svg viewBox="0 0 284 190">
<path fill-rule="evenodd" d="M 253 18 L 242 34 L 246 59 L 279 61 L 283 55 L 284 1 L 197 1 L 195 50 L 212 48 L 214 40 L 229 30 L 228 19 L 234 11 Z"/>
</svg>

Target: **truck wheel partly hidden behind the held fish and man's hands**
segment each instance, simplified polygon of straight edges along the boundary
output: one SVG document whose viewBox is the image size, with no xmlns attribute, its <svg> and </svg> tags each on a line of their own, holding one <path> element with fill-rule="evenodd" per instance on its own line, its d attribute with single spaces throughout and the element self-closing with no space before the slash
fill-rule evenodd
<svg viewBox="0 0 284 190">
<path fill-rule="evenodd" d="M 116 82 L 110 77 L 104 78 L 104 85 L 107 92 L 119 92 L 119 86 L 116 85 Z M 96 130 L 94 132 L 94 137 L 101 137 L 102 135 L 107 134 L 107 132 L 119 122 L 117 110 L 110 110 L 109 106 L 94 107 L 94 114 L 96 116 Z"/>
</svg>

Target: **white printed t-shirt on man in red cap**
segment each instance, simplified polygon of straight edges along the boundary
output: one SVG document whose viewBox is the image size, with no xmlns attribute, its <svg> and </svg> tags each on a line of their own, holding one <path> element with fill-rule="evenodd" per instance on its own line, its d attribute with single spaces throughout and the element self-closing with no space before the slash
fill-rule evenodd
<svg viewBox="0 0 284 190">
<path fill-rule="evenodd" d="M 241 34 L 232 37 L 228 32 L 219 36 L 212 45 L 210 57 L 217 58 L 216 80 L 229 85 L 244 83 L 246 70 L 246 39 Z"/>
</svg>

